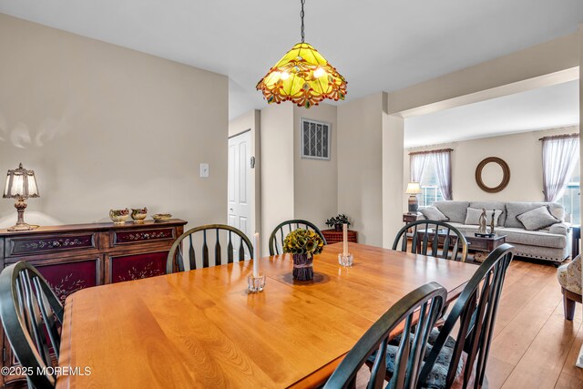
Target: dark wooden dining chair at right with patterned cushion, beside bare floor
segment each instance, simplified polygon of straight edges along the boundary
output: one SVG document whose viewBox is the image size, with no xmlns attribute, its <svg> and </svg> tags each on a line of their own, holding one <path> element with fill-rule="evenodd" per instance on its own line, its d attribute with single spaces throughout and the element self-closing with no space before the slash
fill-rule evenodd
<svg viewBox="0 0 583 389">
<path fill-rule="evenodd" d="M 505 243 L 488 255 L 465 285 L 441 329 L 431 332 L 418 387 L 477 389 L 484 385 L 498 302 L 513 249 Z M 451 333 L 456 329 L 453 338 Z M 410 339 L 413 337 L 411 333 Z M 399 335 L 392 342 L 403 342 L 403 338 Z M 387 368 L 385 379 L 391 380 L 392 376 L 393 371 Z"/>
</svg>

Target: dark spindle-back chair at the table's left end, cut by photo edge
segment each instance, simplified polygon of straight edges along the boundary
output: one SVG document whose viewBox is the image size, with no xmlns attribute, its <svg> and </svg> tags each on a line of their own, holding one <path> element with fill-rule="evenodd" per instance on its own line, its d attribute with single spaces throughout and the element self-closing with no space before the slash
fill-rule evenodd
<svg viewBox="0 0 583 389">
<path fill-rule="evenodd" d="M 58 360 L 63 306 L 45 278 L 25 261 L 0 274 L 0 319 L 16 359 L 30 369 L 28 387 L 55 387 L 56 376 L 46 367 L 53 365 L 51 349 Z"/>
</svg>

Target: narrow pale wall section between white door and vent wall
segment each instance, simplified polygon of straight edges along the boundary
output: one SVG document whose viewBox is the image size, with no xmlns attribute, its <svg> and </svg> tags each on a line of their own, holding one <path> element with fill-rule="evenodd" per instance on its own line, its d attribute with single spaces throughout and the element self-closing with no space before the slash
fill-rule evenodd
<svg viewBox="0 0 583 389">
<path fill-rule="evenodd" d="M 293 106 L 261 109 L 261 250 L 271 231 L 294 217 Z"/>
</svg>

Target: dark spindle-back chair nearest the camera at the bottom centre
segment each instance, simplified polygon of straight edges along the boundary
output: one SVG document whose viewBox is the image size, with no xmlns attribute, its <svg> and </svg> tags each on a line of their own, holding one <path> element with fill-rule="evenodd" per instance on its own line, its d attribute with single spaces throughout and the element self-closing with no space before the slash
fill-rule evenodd
<svg viewBox="0 0 583 389">
<path fill-rule="evenodd" d="M 395 374 L 389 382 L 390 388 L 414 388 L 425 353 L 425 346 L 435 321 L 441 315 L 447 291 L 437 282 L 429 282 L 408 293 L 396 302 L 346 354 L 328 382 L 326 389 L 354 388 L 356 375 L 371 354 L 373 358 L 368 388 L 384 386 L 386 367 L 390 365 Z M 404 332 L 410 333 L 416 321 L 417 331 L 412 342 L 397 346 L 389 344 L 391 333 L 404 322 Z"/>
</svg>

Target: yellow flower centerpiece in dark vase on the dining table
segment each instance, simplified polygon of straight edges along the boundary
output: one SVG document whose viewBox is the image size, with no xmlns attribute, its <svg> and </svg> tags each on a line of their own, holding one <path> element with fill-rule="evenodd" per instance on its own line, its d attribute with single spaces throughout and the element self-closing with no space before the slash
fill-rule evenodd
<svg viewBox="0 0 583 389">
<path fill-rule="evenodd" d="M 283 241 L 283 252 L 293 256 L 293 279 L 309 281 L 313 279 L 313 256 L 320 254 L 324 241 L 312 230 L 292 230 Z"/>
</svg>

